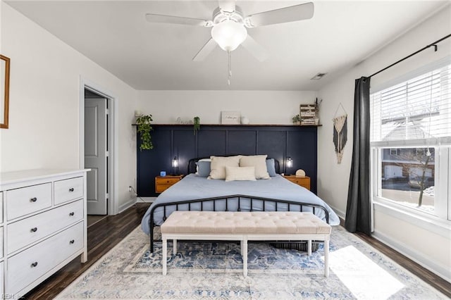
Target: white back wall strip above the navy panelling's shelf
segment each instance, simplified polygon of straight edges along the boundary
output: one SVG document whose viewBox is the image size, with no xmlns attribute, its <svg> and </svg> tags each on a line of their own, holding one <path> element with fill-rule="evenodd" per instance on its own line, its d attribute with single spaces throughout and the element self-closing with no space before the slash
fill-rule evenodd
<svg viewBox="0 0 451 300">
<path fill-rule="evenodd" d="M 312 104 L 316 92 L 299 91 L 139 91 L 137 109 L 154 123 L 173 124 L 180 117 L 201 124 L 221 124 L 221 111 L 240 111 L 251 124 L 292 124 L 299 104 Z"/>
</svg>

